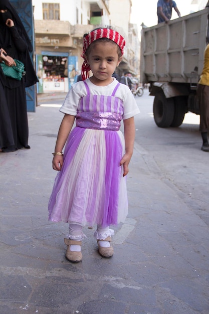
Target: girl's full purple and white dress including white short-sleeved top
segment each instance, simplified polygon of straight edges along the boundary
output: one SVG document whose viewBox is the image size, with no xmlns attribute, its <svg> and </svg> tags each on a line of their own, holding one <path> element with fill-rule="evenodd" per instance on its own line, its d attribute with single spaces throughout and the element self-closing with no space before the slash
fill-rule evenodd
<svg viewBox="0 0 209 314">
<path fill-rule="evenodd" d="M 139 113 L 129 88 L 116 79 L 97 86 L 74 84 L 60 109 L 76 116 L 64 163 L 49 201 L 49 220 L 102 226 L 123 222 L 128 211 L 126 177 L 120 161 L 125 141 L 121 119 Z"/>
</svg>

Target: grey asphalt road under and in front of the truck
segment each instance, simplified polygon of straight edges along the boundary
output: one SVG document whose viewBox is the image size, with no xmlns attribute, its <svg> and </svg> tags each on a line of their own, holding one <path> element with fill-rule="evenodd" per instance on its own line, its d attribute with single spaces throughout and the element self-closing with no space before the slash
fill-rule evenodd
<svg viewBox="0 0 209 314">
<path fill-rule="evenodd" d="M 209 225 L 209 153 L 200 150 L 199 115 L 188 112 L 180 127 L 159 128 L 153 119 L 153 99 L 148 90 L 136 98 L 141 114 L 135 118 L 135 148 L 151 173 Z"/>
</svg>

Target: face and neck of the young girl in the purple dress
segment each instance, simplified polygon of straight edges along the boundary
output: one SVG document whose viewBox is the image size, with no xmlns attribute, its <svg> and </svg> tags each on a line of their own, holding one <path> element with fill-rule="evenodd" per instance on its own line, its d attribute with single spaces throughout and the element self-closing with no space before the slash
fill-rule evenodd
<svg viewBox="0 0 209 314">
<path fill-rule="evenodd" d="M 85 57 L 93 73 L 91 82 L 100 86 L 110 84 L 113 81 L 112 74 L 122 59 L 118 56 L 117 44 L 112 41 L 96 41 L 89 48 Z"/>
</svg>

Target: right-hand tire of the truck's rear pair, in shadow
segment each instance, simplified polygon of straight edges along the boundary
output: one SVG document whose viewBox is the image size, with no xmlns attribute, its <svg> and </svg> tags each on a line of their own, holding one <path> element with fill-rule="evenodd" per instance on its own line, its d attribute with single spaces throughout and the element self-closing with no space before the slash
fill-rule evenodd
<svg viewBox="0 0 209 314">
<path fill-rule="evenodd" d="M 184 115 L 186 113 L 186 99 L 185 97 L 174 97 L 174 117 L 170 124 L 172 127 L 178 127 L 182 124 Z"/>
</svg>

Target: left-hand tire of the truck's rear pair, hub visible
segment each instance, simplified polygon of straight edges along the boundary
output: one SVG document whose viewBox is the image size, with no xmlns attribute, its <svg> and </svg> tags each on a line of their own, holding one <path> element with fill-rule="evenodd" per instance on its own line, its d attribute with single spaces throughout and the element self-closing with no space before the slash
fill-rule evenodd
<svg viewBox="0 0 209 314">
<path fill-rule="evenodd" d="M 163 92 L 159 92 L 154 97 L 153 103 L 154 121 L 159 127 L 168 127 L 174 117 L 174 100 L 165 98 Z"/>
</svg>

